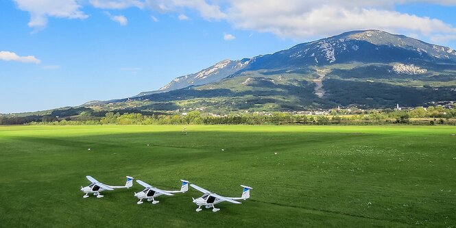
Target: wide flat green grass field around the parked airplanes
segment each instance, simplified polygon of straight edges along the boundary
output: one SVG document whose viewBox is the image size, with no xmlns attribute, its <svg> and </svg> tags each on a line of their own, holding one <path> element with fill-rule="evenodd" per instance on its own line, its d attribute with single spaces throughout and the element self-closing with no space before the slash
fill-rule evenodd
<svg viewBox="0 0 456 228">
<path fill-rule="evenodd" d="M 0 127 L 0 227 L 456 227 L 456 127 L 181 130 Z M 188 179 L 228 197 L 254 189 L 195 212 L 193 189 L 157 205 L 136 205 L 137 183 L 83 199 L 86 175 L 169 190 Z"/>
</svg>

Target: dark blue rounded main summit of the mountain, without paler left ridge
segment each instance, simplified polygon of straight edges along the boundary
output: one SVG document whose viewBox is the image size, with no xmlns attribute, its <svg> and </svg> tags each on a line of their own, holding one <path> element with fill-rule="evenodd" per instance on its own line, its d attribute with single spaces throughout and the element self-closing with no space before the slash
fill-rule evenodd
<svg viewBox="0 0 456 228">
<path fill-rule="evenodd" d="M 248 70 L 301 68 L 349 62 L 456 62 L 456 51 L 385 31 L 350 31 L 252 58 Z"/>
</svg>

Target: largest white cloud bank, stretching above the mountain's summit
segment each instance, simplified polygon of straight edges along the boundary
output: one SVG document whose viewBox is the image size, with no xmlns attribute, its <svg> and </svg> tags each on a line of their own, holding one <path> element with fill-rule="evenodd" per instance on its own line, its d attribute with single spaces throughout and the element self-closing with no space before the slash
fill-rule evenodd
<svg viewBox="0 0 456 228">
<path fill-rule="evenodd" d="M 438 19 L 394 10 L 398 4 L 456 5 L 455 0 L 143 0 L 143 3 L 145 8 L 158 12 L 195 10 L 209 21 L 226 20 L 238 29 L 283 38 L 309 39 L 357 29 L 382 29 L 427 38 L 441 34 L 446 37 L 441 40 L 453 37 L 448 34 L 456 34 L 453 25 Z M 181 15 L 180 19 L 187 19 Z"/>
</svg>

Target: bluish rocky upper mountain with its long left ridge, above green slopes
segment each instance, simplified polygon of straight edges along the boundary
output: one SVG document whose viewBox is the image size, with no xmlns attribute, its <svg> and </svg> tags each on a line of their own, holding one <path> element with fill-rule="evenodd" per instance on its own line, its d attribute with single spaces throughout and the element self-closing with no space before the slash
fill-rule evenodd
<svg viewBox="0 0 456 228">
<path fill-rule="evenodd" d="M 223 60 L 198 73 L 173 79 L 159 90 L 141 92 L 136 97 L 167 92 L 188 86 L 200 86 L 224 79 L 241 71 L 289 69 L 325 66 L 349 62 L 456 62 L 456 51 L 431 45 L 414 38 L 389 34 L 385 31 L 349 31 L 270 55 L 252 59 Z"/>
</svg>

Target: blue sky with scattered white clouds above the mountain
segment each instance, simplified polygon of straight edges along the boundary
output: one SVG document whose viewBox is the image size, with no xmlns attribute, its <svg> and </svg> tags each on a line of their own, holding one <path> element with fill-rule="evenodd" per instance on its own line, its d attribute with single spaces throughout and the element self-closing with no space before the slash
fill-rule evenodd
<svg viewBox="0 0 456 228">
<path fill-rule="evenodd" d="M 0 113 L 130 97 L 224 59 L 355 29 L 456 48 L 456 1 L 57 2 L 0 0 Z"/>
</svg>

